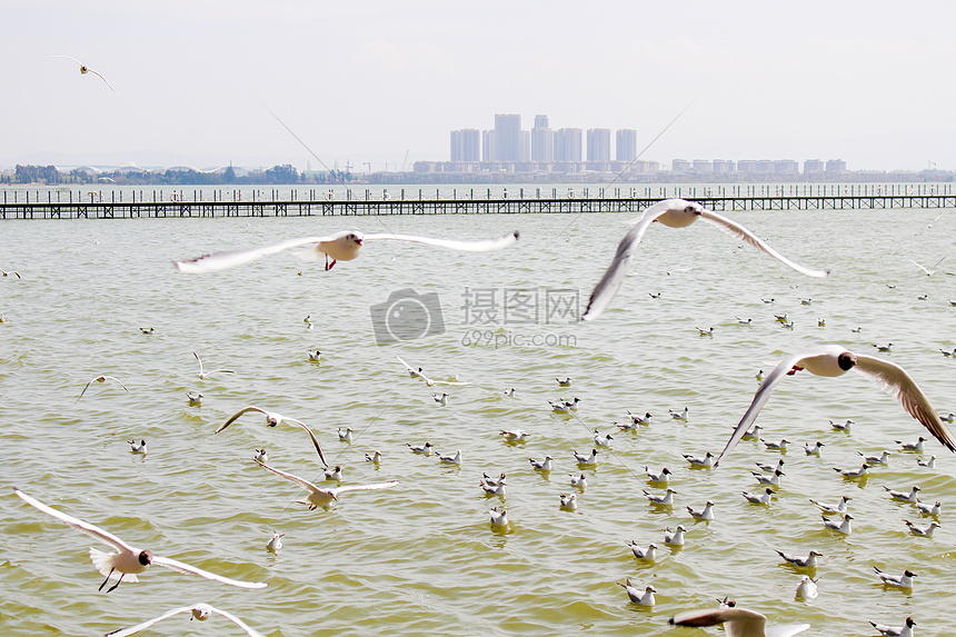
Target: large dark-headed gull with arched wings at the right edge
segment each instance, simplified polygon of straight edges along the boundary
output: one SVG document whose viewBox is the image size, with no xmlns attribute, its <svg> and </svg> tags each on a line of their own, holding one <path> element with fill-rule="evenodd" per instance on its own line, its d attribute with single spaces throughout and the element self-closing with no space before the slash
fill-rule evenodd
<svg viewBox="0 0 956 637">
<path fill-rule="evenodd" d="M 825 377 L 843 376 L 850 369 L 862 371 L 877 382 L 880 382 L 899 400 L 910 416 L 923 424 L 949 450 L 956 451 L 956 438 L 953 437 L 939 419 L 929 399 L 923 394 L 916 381 L 902 367 L 882 358 L 853 354 L 837 345 L 825 345 L 803 354 L 789 356 L 774 368 L 764 382 L 760 384 L 760 388 L 754 396 L 750 407 L 744 414 L 739 425 L 734 430 L 734 435 L 727 441 L 727 446 L 717 459 L 718 464 L 737 445 L 744 431 L 750 427 L 760 414 L 777 384 L 785 376 L 801 369 L 806 369 L 815 376 Z"/>
</svg>

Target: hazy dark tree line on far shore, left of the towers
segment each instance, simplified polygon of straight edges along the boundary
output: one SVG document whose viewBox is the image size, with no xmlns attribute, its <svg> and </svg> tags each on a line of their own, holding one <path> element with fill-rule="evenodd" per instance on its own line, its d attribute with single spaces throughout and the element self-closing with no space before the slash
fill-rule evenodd
<svg viewBox="0 0 956 637">
<path fill-rule="evenodd" d="M 218 186 L 259 183 L 342 183 L 352 181 L 351 172 L 332 169 L 329 172 L 299 172 L 293 166 L 273 166 L 265 170 L 249 170 L 237 177 L 231 166 L 222 171 L 205 172 L 192 169 L 166 171 L 122 170 L 93 172 L 81 168 L 61 171 L 56 166 L 18 163 L 12 175 L 0 176 L 0 183 L 114 183 L 118 186 Z"/>
</svg>

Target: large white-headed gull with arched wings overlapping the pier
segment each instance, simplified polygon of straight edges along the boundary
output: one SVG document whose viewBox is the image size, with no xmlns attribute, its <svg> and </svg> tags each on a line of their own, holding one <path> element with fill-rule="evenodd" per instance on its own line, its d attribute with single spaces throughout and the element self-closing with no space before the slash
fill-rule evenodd
<svg viewBox="0 0 956 637">
<path fill-rule="evenodd" d="M 659 221 L 668 228 L 686 228 L 698 218 L 716 223 L 744 242 L 766 252 L 804 275 L 825 277 L 828 273 L 823 270 L 811 270 L 790 261 L 736 221 L 731 221 L 723 215 L 708 210 L 699 203 L 694 203 L 685 199 L 666 199 L 645 210 L 640 220 L 620 240 L 614 260 L 591 292 L 581 320 L 595 320 L 610 305 L 621 283 L 624 283 L 624 279 L 627 277 L 630 261 L 635 252 L 637 252 L 637 247 L 640 245 L 644 233 L 653 222 Z"/>
</svg>

